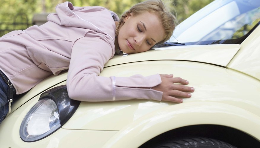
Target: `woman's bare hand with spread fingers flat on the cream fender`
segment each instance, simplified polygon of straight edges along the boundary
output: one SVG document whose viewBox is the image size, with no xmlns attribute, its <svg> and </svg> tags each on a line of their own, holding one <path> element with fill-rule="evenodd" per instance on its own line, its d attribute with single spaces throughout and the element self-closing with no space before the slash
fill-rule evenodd
<svg viewBox="0 0 260 148">
<path fill-rule="evenodd" d="M 194 88 L 185 86 L 189 84 L 189 81 L 184 80 L 182 78 L 173 78 L 173 74 L 160 74 L 160 76 L 162 79 L 162 83 L 155 87 L 152 87 L 152 89 L 163 92 L 162 101 L 182 103 L 183 99 L 179 99 L 178 97 L 190 98 L 192 96 L 189 92 L 193 92 Z"/>
</svg>

